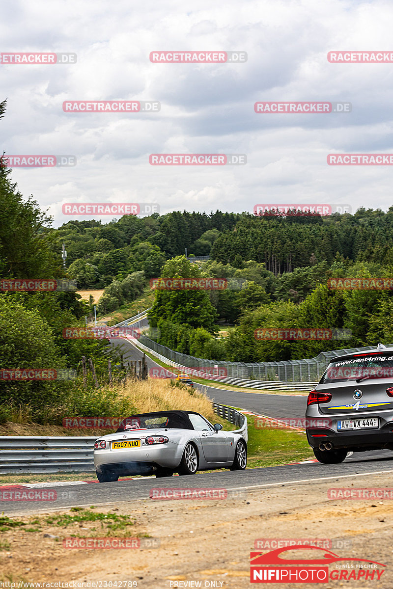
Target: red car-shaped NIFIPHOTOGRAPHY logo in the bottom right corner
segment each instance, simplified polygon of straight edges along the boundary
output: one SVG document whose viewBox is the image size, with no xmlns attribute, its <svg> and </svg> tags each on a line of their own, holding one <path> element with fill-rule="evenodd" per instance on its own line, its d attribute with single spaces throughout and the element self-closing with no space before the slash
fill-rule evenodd
<svg viewBox="0 0 393 589">
<path fill-rule="evenodd" d="M 291 558 L 290 554 L 285 556 L 285 552 L 296 550 L 301 551 L 298 558 Z M 386 567 L 382 562 L 340 557 L 326 548 L 307 544 L 276 548 L 265 554 L 250 552 L 250 559 L 250 583 L 379 581 Z"/>
</svg>

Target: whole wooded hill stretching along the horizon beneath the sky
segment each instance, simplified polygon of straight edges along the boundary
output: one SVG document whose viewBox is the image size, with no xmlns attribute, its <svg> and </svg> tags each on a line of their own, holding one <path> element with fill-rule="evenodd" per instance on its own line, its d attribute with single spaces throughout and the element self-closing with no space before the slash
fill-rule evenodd
<svg viewBox="0 0 393 589">
<path fill-rule="evenodd" d="M 164 261 L 186 248 L 189 255 L 210 255 L 237 268 L 248 260 L 265 263 L 275 276 L 323 261 L 330 265 L 337 254 L 353 262 L 393 264 L 393 207 L 331 217 L 174 211 L 108 223 L 70 220 L 54 233 L 55 251 L 65 243 L 68 272 L 80 287 L 103 288 L 131 272 L 159 276 Z"/>
</svg>

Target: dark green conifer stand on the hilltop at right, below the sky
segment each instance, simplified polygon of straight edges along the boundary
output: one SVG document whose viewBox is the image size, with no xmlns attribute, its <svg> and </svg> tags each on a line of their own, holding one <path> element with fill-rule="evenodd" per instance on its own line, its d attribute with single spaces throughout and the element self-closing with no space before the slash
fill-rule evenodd
<svg viewBox="0 0 393 589">
<path fill-rule="evenodd" d="M 393 263 L 393 207 L 359 209 L 354 215 L 276 218 L 242 214 L 236 226 L 214 241 L 210 257 L 240 267 L 243 260 L 265 263 L 276 274 L 313 266 L 336 254 L 355 262 Z"/>
</svg>

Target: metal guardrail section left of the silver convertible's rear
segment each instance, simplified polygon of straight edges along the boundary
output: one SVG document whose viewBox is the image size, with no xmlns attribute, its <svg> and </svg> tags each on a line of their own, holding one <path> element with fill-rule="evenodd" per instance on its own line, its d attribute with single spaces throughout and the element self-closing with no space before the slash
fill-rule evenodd
<svg viewBox="0 0 393 589">
<path fill-rule="evenodd" d="M 0 474 L 95 471 L 98 436 L 0 436 Z"/>
</svg>

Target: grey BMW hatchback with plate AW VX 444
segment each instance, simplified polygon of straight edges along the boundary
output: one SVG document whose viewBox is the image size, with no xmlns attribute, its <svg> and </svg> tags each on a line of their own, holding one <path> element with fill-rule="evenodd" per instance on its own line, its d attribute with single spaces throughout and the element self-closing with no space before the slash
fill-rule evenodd
<svg viewBox="0 0 393 589">
<path fill-rule="evenodd" d="M 323 464 L 348 452 L 393 450 L 393 348 L 339 356 L 309 393 L 306 435 Z"/>
</svg>

